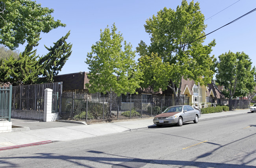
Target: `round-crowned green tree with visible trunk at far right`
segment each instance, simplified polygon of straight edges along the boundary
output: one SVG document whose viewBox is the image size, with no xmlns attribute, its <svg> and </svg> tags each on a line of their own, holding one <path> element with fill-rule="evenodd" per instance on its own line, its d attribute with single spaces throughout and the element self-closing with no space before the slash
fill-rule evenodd
<svg viewBox="0 0 256 168">
<path fill-rule="evenodd" d="M 219 55 L 216 84 L 224 86 L 221 93 L 228 98 L 229 108 L 232 109 L 232 98 L 246 96 L 254 92 L 255 67 L 244 52 L 228 52 Z"/>
</svg>

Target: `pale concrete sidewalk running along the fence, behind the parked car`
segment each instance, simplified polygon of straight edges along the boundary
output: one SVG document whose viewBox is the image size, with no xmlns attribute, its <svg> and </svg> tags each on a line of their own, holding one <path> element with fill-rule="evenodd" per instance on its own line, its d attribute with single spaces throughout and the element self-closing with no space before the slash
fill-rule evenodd
<svg viewBox="0 0 256 168">
<path fill-rule="evenodd" d="M 200 120 L 250 113 L 250 109 L 222 113 L 201 114 Z M 96 137 L 111 133 L 133 131 L 155 126 L 153 117 L 140 120 L 125 120 L 104 124 L 78 124 L 68 122 L 41 122 L 35 120 L 12 119 L 16 131 L 0 133 L 0 150 Z M 19 127 L 21 126 L 21 127 Z M 23 129 L 22 127 L 25 127 Z"/>
</svg>

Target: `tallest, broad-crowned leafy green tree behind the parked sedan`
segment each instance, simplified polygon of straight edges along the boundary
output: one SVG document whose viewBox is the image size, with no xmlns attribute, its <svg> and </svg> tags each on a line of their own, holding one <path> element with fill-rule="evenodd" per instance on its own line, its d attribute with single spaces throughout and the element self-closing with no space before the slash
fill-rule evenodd
<svg viewBox="0 0 256 168">
<path fill-rule="evenodd" d="M 202 45 L 206 38 L 203 37 L 206 25 L 198 2 L 194 4 L 191 1 L 188 4 L 186 0 L 182 0 L 176 11 L 164 7 L 156 16 L 147 19 L 144 27 L 150 35 L 151 43 L 147 46 L 141 41 L 136 48 L 141 56 L 140 66 L 147 84 L 144 87 L 152 86 L 155 91 L 169 87 L 178 100 L 182 78 L 193 79 L 201 85 L 211 82 L 215 59 L 210 53 L 215 40 Z M 158 56 L 151 55 L 152 53 Z M 154 62 L 161 66 L 156 66 L 153 70 L 150 66 Z M 165 72 L 165 75 L 157 72 Z"/>
</svg>

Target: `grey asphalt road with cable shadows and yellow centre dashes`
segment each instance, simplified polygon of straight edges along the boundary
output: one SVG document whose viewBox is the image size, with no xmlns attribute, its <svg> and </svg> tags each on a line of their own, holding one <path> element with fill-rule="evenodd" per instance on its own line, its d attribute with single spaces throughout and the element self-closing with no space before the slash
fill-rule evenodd
<svg viewBox="0 0 256 168">
<path fill-rule="evenodd" d="M 0 167 L 256 167 L 256 113 L 0 151 Z"/>
</svg>

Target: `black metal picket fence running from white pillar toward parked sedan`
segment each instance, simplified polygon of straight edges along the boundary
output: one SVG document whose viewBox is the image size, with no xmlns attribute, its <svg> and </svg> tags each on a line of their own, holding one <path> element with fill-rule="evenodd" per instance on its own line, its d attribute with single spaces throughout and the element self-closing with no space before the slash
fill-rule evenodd
<svg viewBox="0 0 256 168">
<path fill-rule="evenodd" d="M 117 97 L 115 94 L 64 92 L 61 102 L 61 119 L 90 123 L 154 116 L 176 102 L 188 105 L 189 98 L 182 97 L 177 101 L 169 96 L 142 94 Z"/>
</svg>

